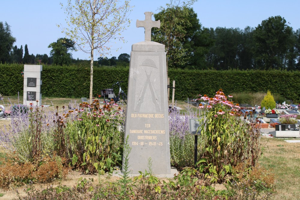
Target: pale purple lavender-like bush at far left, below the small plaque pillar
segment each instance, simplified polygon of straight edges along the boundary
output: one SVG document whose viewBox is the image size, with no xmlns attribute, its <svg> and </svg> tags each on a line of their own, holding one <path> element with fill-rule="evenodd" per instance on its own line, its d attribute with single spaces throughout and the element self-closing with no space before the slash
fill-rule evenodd
<svg viewBox="0 0 300 200">
<path fill-rule="evenodd" d="M 0 131 L 0 143 L 10 153 L 15 153 L 20 162 L 38 162 L 53 152 L 51 127 L 46 126 L 44 111 L 38 106 L 29 112 L 16 112 L 9 127 Z"/>
</svg>

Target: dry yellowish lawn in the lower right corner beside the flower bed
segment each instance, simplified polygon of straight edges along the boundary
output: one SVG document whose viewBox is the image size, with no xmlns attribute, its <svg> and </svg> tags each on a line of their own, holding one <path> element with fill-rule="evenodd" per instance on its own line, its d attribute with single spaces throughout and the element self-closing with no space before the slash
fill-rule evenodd
<svg viewBox="0 0 300 200">
<path fill-rule="evenodd" d="M 268 141 L 268 142 L 267 142 Z M 275 193 L 271 199 L 299 199 L 300 196 L 300 143 L 284 139 L 262 138 L 268 148 L 263 151 L 260 165 L 275 175 Z"/>
</svg>

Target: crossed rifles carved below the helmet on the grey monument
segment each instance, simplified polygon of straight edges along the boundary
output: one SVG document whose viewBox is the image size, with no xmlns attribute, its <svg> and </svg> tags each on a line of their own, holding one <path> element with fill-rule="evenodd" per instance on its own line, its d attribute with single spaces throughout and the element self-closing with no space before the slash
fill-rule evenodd
<svg viewBox="0 0 300 200">
<path fill-rule="evenodd" d="M 147 80 L 143 85 L 142 91 L 141 91 L 141 93 L 139 95 L 139 98 L 137 100 L 137 106 L 135 107 L 134 111 L 135 112 L 140 112 L 141 105 L 144 102 L 146 89 L 147 89 L 147 86 L 149 85 L 149 88 L 150 88 L 150 91 L 151 91 L 151 94 L 152 94 L 152 101 L 155 105 L 155 111 L 156 112 L 161 112 L 161 108 L 159 107 L 159 104 L 158 104 L 158 97 L 155 95 L 155 91 L 153 89 L 153 85 L 152 85 L 152 82 L 150 80 L 150 76 L 151 76 L 152 71 L 150 72 L 150 74 L 147 74 L 147 72 L 145 70 L 145 73 L 146 73 L 146 76 L 147 76 Z"/>
</svg>

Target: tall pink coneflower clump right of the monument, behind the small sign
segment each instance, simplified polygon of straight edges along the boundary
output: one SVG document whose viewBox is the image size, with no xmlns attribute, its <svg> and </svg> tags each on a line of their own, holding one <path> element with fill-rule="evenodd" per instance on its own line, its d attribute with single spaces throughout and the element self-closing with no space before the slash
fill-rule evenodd
<svg viewBox="0 0 300 200">
<path fill-rule="evenodd" d="M 249 158 L 251 166 L 255 165 L 259 156 L 259 126 L 253 112 L 242 115 L 239 105 L 227 99 L 222 89 L 213 98 L 206 95 L 201 98 L 210 105 L 206 106 L 209 112 L 199 116 L 204 149 L 198 162 L 199 170 L 211 182 L 222 182 L 232 166 L 243 160 Z"/>
</svg>

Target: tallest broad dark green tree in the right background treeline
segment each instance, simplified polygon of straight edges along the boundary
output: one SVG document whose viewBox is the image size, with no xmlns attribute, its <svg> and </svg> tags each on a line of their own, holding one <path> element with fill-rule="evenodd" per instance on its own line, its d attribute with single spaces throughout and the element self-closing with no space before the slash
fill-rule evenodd
<svg viewBox="0 0 300 200">
<path fill-rule="evenodd" d="M 292 27 L 281 16 L 263 20 L 254 30 L 256 63 L 260 69 L 283 69 Z"/>
</svg>

